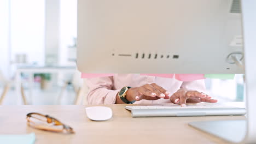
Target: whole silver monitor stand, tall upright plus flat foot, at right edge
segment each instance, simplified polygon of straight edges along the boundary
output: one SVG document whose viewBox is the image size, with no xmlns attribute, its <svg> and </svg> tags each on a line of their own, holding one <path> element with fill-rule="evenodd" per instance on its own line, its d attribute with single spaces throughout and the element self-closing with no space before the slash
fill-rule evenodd
<svg viewBox="0 0 256 144">
<path fill-rule="evenodd" d="M 245 44 L 247 121 L 191 122 L 189 125 L 231 142 L 256 143 L 256 1 L 242 0 L 243 42 Z M 245 141 L 243 141 L 245 140 Z"/>
</svg>

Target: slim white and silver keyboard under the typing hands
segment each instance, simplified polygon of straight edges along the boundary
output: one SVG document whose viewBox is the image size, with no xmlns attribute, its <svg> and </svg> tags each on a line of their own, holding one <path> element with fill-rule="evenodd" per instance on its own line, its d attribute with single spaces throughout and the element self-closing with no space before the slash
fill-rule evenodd
<svg viewBox="0 0 256 144">
<path fill-rule="evenodd" d="M 245 115 L 244 107 L 225 106 L 218 104 L 187 105 L 139 105 L 125 106 L 130 110 L 132 117 L 167 117 L 167 116 L 223 116 Z"/>
</svg>

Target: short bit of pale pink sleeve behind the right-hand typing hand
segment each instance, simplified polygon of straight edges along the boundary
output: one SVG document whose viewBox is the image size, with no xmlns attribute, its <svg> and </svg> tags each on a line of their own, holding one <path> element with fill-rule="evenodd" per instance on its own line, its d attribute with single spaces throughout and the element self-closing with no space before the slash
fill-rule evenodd
<svg viewBox="0 0 256 144">
<path fill-rule="evenodd" d="M 186 89 L 190 89 L 190 90 L 198 91 L 202 93 L 206 92 L 205 80 L 184 81 L 182 83 L 181 88 L 186 88 Z"/>
</svg>

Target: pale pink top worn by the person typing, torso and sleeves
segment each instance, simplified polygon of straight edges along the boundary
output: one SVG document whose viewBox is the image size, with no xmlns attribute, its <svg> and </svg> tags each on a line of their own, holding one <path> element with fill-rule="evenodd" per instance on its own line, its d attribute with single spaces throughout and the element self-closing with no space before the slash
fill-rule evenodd
<svg viewBox="0 0 256 144">
<path fill-rule="evenodd" d="M 88 104 L 115 104 L 117 93 L 124 86 L 139 87 L 146 83 L 156 83 L 167 91 L 174 93 L 179 88 L 187 88 L 194 91 L 205 92 L 205 81 L 179 81 L 175 78 L 155 77 L 139 74 L 114 74 L 107 77 L 95 77 L 86 81 L 89 93 Z M 158 99 L 154 101 L 141 100 L 135 104 L 160 104 L 171 103 L 170 100 Z"/>
</svg>

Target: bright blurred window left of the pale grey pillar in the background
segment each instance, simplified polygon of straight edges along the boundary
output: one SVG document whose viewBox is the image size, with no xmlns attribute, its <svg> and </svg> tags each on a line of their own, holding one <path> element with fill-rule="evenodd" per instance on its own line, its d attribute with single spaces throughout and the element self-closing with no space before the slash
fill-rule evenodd
<svg viewBox="0 0 256 144">
<path fill-rule="evenodd" d="M 44 0 L 10 1 L 11 61 L 25 55 L 28 64 L 44 64 Z"/>
</svg>

